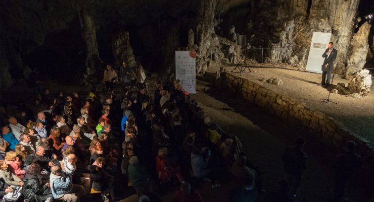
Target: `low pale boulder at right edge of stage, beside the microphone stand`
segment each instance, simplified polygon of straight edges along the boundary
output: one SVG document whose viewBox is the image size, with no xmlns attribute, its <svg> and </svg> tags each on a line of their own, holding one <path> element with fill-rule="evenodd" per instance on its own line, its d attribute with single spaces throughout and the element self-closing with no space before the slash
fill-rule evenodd
<svg viewBox="0 0 374 202">
<path fill-rule="evenodd" d="M 344 84 L 339 83 L 337 85 L 338 93 L 344 95 L 358 94 L 361 97 L 365 97 L 370 93 L 371 86 L 371 75 L 368 70 L 360 70 L 353 74 L 352 80 L 345 87 Z"/>
</svg>

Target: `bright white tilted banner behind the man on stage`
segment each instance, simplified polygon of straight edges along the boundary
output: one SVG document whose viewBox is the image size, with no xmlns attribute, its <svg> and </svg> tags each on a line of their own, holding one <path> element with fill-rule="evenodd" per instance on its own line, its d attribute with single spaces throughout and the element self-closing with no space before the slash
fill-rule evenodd
<svg viewBox="0 0 374 202">
<path fill-rule="evenodd" d="M 307 72 L 322 73 L 321 65 L 324 60 L 322 54 L 328 48 L 330 38 L 331 33 L 313 32 L 308 61 L 306 63 Z"/>
</svg>

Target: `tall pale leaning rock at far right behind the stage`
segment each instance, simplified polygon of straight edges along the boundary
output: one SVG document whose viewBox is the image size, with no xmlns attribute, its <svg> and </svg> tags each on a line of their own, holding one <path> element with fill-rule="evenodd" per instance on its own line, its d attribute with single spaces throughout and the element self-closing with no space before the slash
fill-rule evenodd
<svg viewBox="0 0 374 202">
<path fill-rule="evenodd" d="M 368 36 L 370 28 L 371 25 L 366 22 L 359 28 L 357 34 L 353 36 L 348 51 L 347 71 L 345 73 L 345 78 L 348 80 L 351 79 L 353 73 L 362 70 L 365 65 L 369 50 Z"/>
</svg>

